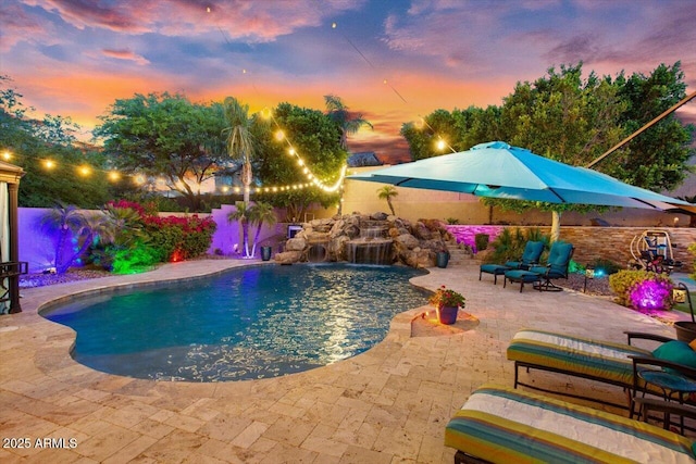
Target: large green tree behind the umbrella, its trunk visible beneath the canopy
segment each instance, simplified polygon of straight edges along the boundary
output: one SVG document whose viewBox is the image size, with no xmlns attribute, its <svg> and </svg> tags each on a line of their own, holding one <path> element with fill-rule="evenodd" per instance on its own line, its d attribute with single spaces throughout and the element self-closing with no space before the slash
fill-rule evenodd
<svg viewBox="0 0 696 464">
<path fill-rule="evenodd" d="M 591 73 L 582 78 L 582 63 L 549 68 L 547 76 L 518 84 L 505 99 L 501 125 L 509 142 L 537 154 L 570 164 L 584 165 L 621 139 L 619 115 L 625 104 L 609 79 Z M 504 209 L 538 208 L 551 212 L 551 241 L 560 235 L 563 211 L 587 211 L 596 206 L 574 204 L 487 201 Z"/>
</svg>

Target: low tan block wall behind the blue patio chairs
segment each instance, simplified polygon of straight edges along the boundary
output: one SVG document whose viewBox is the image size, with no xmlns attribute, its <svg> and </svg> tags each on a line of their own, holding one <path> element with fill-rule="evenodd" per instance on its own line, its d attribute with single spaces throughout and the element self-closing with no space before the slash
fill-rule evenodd
<svg viewBox="0 0 696 464">
<path fill-rule="evenodd" d="M 488 234 L 490 241 L 500 234 L 506 226 L 471 225 L 471 226 L 448 226 L 448 229 L 457 237 L 457 241 L 469 246 L 474 242 L 475 234 Z M 517 228 L 518 226 L 507 226 Z M 530 227 L 519 226 L 526 230 Z M 544 234 L 549 234 L 551 228 L 538 227 Z M 584 226 L 562 226 L 561 240 L 573 243 L 575 253 L 573 260 L 581 264 L 591 263 L 597 259 L 611 260 L 623 267 L 633 260 L 631 254 L 631 241 L 635 236 L 645 230 L 667 231 L 672 243 L 672 252 L 676 261 L 681 261 L 683 266 L 680 272 L 694 272 L 694 255 L 687 250 L 688 246 L 696 242 L 696 228 L 687 227 L 584 227 Z"/>
</svg>

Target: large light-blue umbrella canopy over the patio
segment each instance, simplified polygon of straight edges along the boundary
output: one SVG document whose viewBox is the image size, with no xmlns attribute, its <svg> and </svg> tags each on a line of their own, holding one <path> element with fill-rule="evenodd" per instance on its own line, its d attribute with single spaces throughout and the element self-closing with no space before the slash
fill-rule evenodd
<svg viewBox="0 0 696 464">
<path fill-rule="evenodd" d="M 686 201 L 634 187 L 597 171 L 549 160 L 501 141 L 480 143 L 459 153 L 348 178 L 478 197 L 657 210 L 681 208 L 696 213 L 696 205 Z"/>
</svg>

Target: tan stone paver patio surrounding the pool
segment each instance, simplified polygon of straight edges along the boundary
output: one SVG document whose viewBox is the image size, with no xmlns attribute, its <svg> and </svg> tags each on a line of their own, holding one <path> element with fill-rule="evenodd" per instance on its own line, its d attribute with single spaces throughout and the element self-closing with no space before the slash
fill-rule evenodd
<svg viewBox="0 0 696 464">
<path fill-rule="evenodd" d="M 412 310 L 398 315 L 387 338 L 368 352 L 275 379 L 190 384 L 103 374 L 71 359 L 71 329 L 37 314 L 49 300 L 76 292 L 243 264 L 184 262 L 148 274 L 23 290 L 24 312 L 0 317 L 0 461 L 451 463 L 453 450 L 443 446 L 445 425 L 481 384 L 512 384 L 505 351 L 519 328 L 616 341 L 624 341 L 623 330 L 630 329 L 673 335 L 671 327 L 607 299 L 572 291 L 519 293 L 518 286 L 478 281 L 473 261 L 433 268 L 413 283 L 463 292 L 467 311 L 481 322 L 474 330 L 411 338 L 410 321 L 420 312 Z M 557 389 L 623 396 L 618 388 L 562 375 L 537 373 L 534 379 Z M 11 438 L 28 438 L 30 448 L 8 448 Z M 69 448 L 37 448 L 44 438 L 64 438 Z"/>
</svg>

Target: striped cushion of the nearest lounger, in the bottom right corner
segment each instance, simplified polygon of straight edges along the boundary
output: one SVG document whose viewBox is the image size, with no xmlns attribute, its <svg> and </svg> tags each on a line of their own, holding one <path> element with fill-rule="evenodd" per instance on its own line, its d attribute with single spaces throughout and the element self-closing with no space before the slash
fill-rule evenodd
<svg viewBox="0 0 696 464">
<path fill-rule="evenodd" d="M 445 446 L 459 450 L 455 463 L 469 456 L 492 463 L 694 462 L 693 440 L 673 431 L 492 385 L 474 391 L 447 424 Z"/>
</svg>

